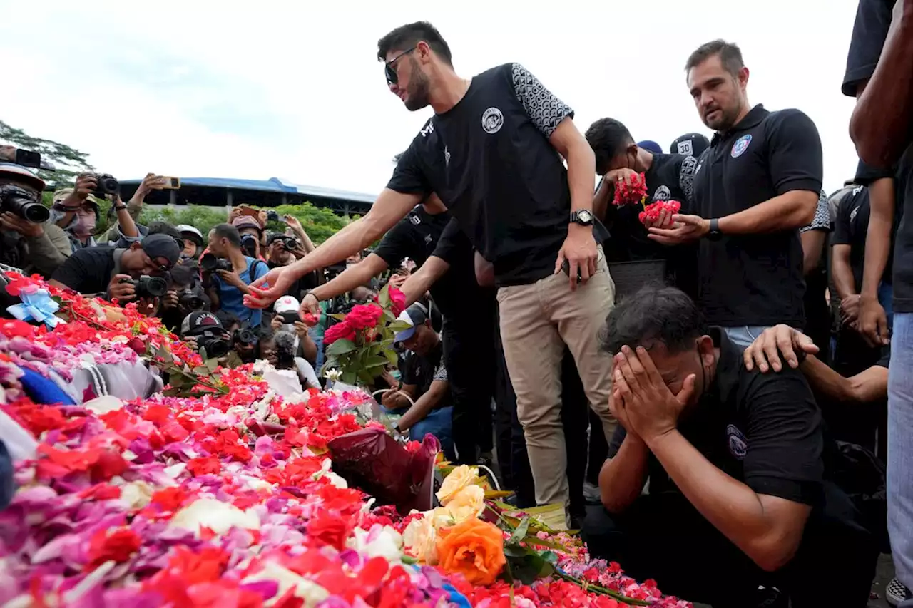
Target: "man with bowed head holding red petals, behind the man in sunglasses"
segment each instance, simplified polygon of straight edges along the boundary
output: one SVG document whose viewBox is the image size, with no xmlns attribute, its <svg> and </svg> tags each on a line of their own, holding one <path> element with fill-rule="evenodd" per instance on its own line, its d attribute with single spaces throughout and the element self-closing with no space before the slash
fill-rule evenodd
<svg viewBox="0 0 913 608">
<path fill-rule="evenodd" d="M 637 173 L 644 173 L 646 199 L 644 205 L 658 201 L 678 201 L 681 213 L 689 213 L 692 180 L 698 160 L 684 154 L 654 153 L 639 147 L 619 121 L 604 118 L 593 122 L 586 130 L 586 141 L 590 142 L 596 156 L 596 174 L 603 177 L 593 195 L 593 213 L 603 219 L 609 227 L 612 238 L 606 247 L 610 262 L 631 262 L 637 260 L 666 260 L 666 276 L 678 288 L 695 295 L 697 285 L 696 257 L 694 244 L 667 247 L 660 245 L 647 235 L 646 226 L 638 215 L 644 210 L 639 203 L 613 204 L 616 183 L 630 183 Z M 666 220 L 666 215 L 663 219 Z M 667 222 L 671 224 L 672 215 Z"/>
</svg>

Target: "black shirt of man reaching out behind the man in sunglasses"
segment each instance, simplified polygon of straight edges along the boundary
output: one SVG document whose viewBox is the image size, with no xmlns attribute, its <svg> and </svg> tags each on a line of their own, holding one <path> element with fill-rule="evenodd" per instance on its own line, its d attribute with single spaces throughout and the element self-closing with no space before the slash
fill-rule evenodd
<svg viewBox="0 0 913 608">
<path fill-rule="evenodd" d="M 383 236 L 374 254 L 390 267 L 398 266 L 406 257 L 415 260 L 419 267 L 432 255 L 447 262 L 450 268 L 429 291 L 446 326 L 452 329 L 471 325 L 477 310 L 491 306 L 491 296 L 478 286 L 472 245 L 459 232 L 458 226 L 455 226 L 456 243 L 447 246 L 446 256 L 439 255 L 444 251 L 441 241 L 451 223 L 448 214 L 431 215 L 422 205 L 417 205 Z"/>
</svg>

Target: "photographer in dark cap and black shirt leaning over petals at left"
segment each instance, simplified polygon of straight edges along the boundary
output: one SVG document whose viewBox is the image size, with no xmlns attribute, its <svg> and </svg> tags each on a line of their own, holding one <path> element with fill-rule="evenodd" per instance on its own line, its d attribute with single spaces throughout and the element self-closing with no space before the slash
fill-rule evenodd
<svg viewBox="0 0 913 608">
<path fill-rule="evenodd" d="M 139 298 L 141 309 L 151 314 L 167 293 L 164 277 L 180 256 L 180 247 L 167 235 L 147 236 L 126 249 L 79 249 L 57 269 L 51 285 L 121 302 Z"/>
</svg>

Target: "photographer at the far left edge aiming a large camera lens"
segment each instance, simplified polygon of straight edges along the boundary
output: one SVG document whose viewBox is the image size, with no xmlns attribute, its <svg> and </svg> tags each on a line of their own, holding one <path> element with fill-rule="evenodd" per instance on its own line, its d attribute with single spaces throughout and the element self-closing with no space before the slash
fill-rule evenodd
<svg viewBox="0 0 913 608">
<path fill-rule="evenodd" d="M 41 204 L 45 183 L 14 162 L 0 162 L 0 262 L 50 277 L 70 254 L 69 239 L 47 223 Z"/>
</svg>

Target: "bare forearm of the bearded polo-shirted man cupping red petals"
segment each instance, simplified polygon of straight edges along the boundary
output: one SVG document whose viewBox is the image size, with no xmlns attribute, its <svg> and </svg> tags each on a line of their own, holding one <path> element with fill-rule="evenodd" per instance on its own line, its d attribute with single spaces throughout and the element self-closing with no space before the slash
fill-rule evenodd
<svg viewBox="0 0 913 608">
<path fill-rule="evenodd" d="M 801 228 L 812 223 L 819 194 L 792 190 L 774 196 L 739 213 L 719 217 L 719 231 L 724 235 L 759 235 Z"/>
</svg>

